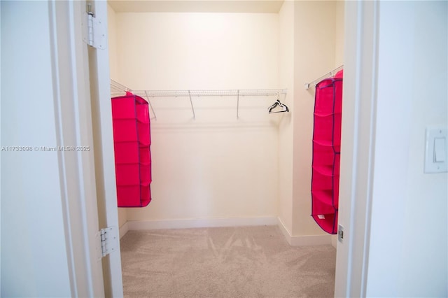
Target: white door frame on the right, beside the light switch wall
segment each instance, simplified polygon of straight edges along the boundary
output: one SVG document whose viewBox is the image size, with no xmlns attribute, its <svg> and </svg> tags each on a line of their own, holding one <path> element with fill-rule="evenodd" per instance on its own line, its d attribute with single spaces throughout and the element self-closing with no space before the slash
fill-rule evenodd
<svg viewBox="0 0 448 298">
<path fill-rule="evenodd" d="M 365 297 L 377 101 L 379 1 L 346 1 L 335 297 Z M 346 83 L 349 82 L 349 83 Z"/>
</svg>

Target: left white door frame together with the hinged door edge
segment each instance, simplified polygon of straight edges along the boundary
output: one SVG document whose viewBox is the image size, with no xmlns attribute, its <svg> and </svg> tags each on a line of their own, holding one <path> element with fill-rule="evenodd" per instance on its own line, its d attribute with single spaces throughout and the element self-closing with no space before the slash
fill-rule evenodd
<svg viewBox="0 0 448 298">
<path fill-rule="evenodd" d="M 107 3 L 93 4 L 107 34 Z M 48 6 L 58 143 L 90 148 L 59 155 L 71 293 L 123 297 L 120 250 L 101 258 L 98 243 L 99 227 L 118 229 L 109 52 L 83 41 L 85 1 Z"/>
</svg>

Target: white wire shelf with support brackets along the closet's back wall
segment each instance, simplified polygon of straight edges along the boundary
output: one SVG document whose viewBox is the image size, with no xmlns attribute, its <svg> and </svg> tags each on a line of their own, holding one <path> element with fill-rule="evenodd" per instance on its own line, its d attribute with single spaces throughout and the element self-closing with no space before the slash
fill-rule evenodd
<svg viewBox="0 0 448 298">
<path fill-rule="evenodd" d="M 261 96 L 277 96 L 279 99 L 281 94 L 286 94 L 286 89 L 255 89 L 255 90 L 131 90 L 130 88 L 122 85 L 115 80 L 111 80 L 111 95 L 121 96 L 126 92 L 132 92 L 132 94 L 139 97 L 146 98 L 148 104 L 153 111 L 154 118 L 155 112 L 151 105 L 151 98 L 155 97 L 189 97 L 190 104 L 193 111 L 193 118 L 195 118 L 195 108 L 193 106 L 192 97 L 237 97 L 237 118 L 239 118 L 239 97 L 261 97 Z"/>
</svg>

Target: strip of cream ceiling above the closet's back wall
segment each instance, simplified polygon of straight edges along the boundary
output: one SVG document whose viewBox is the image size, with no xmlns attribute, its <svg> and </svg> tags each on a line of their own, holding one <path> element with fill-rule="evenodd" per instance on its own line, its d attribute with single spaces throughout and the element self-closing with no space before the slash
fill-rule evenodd
<svg viewBox="0 0 448 298">
<path fill-rule="evenodd" d="M 116 13 L 278 13 L 283 0 L 108 0 Z"/>
</svg>

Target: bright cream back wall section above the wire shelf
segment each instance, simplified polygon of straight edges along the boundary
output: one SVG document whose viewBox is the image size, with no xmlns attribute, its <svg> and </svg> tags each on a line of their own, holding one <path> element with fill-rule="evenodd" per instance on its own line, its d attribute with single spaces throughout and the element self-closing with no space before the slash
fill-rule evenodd
<svg viewBox="0 0 448 298">
<path fill-rule="evenodd" d="M 276 14 L 116 17 L 120 76 L 134 90 L 277 87 Z"/>
</svg>

